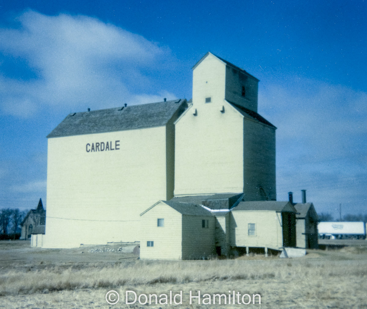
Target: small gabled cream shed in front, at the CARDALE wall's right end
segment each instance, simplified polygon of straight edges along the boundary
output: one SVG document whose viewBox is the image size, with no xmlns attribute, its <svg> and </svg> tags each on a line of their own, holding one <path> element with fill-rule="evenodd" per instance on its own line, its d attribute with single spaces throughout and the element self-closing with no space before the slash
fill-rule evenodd
<svg viewBox="0 0 367 309">
<path fill-rule="evenodd" d="M 215 254 L 215 217 L 200 205 L 159 201 L 140 216 L 140 258 L 202 259 Z"/>
</svg>

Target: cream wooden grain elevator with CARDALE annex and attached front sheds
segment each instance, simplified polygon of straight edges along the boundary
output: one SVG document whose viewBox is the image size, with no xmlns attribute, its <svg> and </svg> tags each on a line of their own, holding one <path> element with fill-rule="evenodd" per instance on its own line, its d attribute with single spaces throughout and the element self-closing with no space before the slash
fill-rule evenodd
<svg viewBox="0 0 367 309">
<path fill-rule="evenodd" d="M 257 113 L 258 82 L 207 53 L 190 101 L 66 116 L 48 135 L 43 247 L 140 241 L 142 258 L 190 259 L 293 245 L 284 228 L 296 210 L 275 202 L 276 127 Z"/>
</svg>

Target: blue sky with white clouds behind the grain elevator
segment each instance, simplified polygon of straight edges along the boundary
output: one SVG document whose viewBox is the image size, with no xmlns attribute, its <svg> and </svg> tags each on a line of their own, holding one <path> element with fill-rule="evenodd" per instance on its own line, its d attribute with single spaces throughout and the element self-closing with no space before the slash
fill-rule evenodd
<svg viewBox="0 0 367 309">
<path fill-rule="evenodd" d="M 366 1 L 0 6 L 0 208 L 47 204 L 46 135 L 69 112 L 189 99 L 211 51 L 260 79 L 277 200 L 367 214 Z"/>
</svg>

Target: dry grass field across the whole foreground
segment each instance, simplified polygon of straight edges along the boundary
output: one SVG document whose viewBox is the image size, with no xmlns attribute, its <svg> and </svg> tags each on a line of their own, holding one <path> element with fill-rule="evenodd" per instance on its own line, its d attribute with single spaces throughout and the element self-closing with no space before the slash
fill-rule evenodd
<svg viewBox="0 0 367 309">
<path fill-rule="evenodd" d="M 118 246 L 117 246 L 118 247 Z M 113 247 L 109 247 L 113 248 Z M 0 308 L 367 308 L 367 248 L 309 251 L 303 258 L 263 256 L 212 261 L 143 261 L 91 248 L 29 248 L 0 242 Z M 109 305 L 109 290 L 120 294 Z M 126 290 L 174 294 L 182 305 L 126 305 Z M 260 294 L 261 305 L 189 304 L 197 295 Z M 112 298 L 113 299 L 113 298 Z"/>
</svg>

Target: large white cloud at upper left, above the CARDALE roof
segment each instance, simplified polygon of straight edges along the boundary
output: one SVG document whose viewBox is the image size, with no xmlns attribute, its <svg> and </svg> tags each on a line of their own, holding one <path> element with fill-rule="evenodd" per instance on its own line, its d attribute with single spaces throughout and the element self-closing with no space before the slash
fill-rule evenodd
<svg viewBox="0 0 367 309">
<path fill-rule="evenodd" d="M 173 57 L 140 35 L 86 16 L 28 11 L 18 22 L 18 28 L 0 29 L 0 52 L 9 61 L 21 58 L 30 75 L 0 72 L 0 104 L 7 114 L 28 117 L 52 106 L 112 107 L 164 91 L 150 73 Z"/>
</svg>

